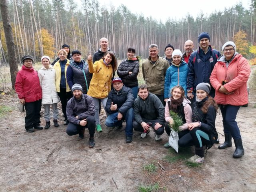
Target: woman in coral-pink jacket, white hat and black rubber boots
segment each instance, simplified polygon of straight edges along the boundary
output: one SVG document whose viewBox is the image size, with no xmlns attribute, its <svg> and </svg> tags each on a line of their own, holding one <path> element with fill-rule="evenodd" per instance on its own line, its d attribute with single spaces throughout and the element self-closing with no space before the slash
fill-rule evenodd
<svg viewBox="0 0 256 192">
<path fill-rule="evenodd" d="M 225 142 L 218 148 L 231 147 L 233 138 L 236 146 L 233 157 L 238 158 L 244 155 L 244 148 L 236 114 L 240 106 L 248 103 L 246 82 L 250 76 L 250 66 L 246 58 L 236 52 L 234 42 L 226 42 L 222 51 L 224 54 L 218 58 L 210 76 L 216 90 L 214 99 L 220 104 L 225 134 Z"/>
</svg>

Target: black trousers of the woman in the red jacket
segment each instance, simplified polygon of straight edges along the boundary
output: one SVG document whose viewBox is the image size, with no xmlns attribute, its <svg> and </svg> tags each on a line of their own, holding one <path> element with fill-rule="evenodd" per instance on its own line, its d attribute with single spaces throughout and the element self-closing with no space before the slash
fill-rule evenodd
<svg viewBox="0 0 256 192">
<path fill-rule="evenodd" d="M 41 123 L 40 111 L 41 111 L 42 100 L 25 103 L 26 117 L 25 117 L 25 129 L 32 128 Z"/>
</svg>

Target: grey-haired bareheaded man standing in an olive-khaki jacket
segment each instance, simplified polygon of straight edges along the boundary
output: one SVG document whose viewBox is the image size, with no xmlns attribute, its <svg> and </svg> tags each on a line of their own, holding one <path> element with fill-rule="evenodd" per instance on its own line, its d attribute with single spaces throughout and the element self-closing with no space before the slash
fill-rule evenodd
<svg viewBox="0 0 256 192">
<path fill-rule="evenodd" d="M 149 57 L 142 63 L 142 75 L 150 93 L 155 94 L 164 104 L 164 80 L 170 67 L 167 60 L 159 57 L 158 46 L 149 46 Z"/>
</svg>

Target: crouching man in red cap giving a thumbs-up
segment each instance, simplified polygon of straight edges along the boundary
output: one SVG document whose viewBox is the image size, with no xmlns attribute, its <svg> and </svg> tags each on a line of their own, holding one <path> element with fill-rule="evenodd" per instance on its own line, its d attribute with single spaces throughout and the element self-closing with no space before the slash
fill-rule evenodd
<svg viewBox="0 0 256 192">
<path fill-rule="evenodd" d="M 132 142 L 132 121 L 134 112 L 132 105 L 134 98 L 132 89 L 123 86 L 120 78 L 114 78 L 112 80 L 114 89 L 108 94 L 108 100 L 106 103 L 106 111 L 110 114 L 106 119 L 106 126 L 122 128 L 122 120 L 126 120 L 125 134 L 126 143 Z"/>
</svg>

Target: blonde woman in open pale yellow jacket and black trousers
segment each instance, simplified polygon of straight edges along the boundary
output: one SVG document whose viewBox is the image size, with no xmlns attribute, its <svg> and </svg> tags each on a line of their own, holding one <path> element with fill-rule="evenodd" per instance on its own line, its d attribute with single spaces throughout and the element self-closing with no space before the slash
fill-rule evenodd
<svg viewBox="0 0 256 192">
<path fill-rule="evenodd" d="M 68 53 L 65 50 L 63 49 L 59 50 L 58 56 L 60 59 L 53 66 L 56 72 L 56 81 L 55 81 L 56 89 L 58 92 L 58 96 L 60 97 L 62 112 L 65 117 L 64 125 L 68 124 L 68 119 L 66 114 L 67 102 L 73 96 L 68 86 L 67 77 L 66 77 L 67 68 L 69 66 L 69 60 L 67 59 L 67 55 Z"/>
</svg>

